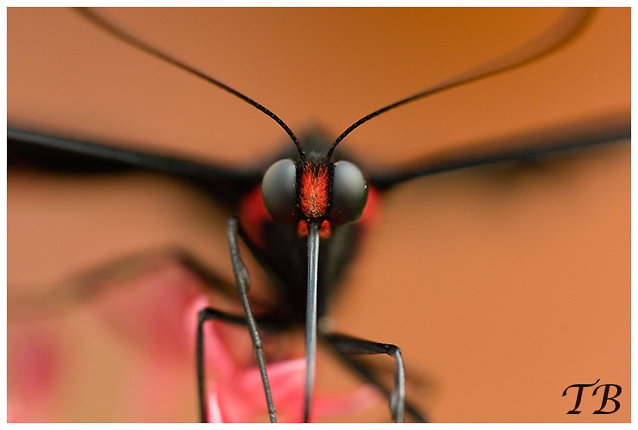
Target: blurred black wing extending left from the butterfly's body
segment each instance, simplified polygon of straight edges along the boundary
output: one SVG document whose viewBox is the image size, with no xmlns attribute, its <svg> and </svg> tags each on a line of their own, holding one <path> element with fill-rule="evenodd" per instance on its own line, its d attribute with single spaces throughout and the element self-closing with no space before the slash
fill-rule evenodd
<svg viewBox="0 0 638 430">
<path fill-rule="evenodd" d="M 236 203 L 261 182 L 261 169 L 229 169 L 173 155 L 146 153 L 7 128 L 9 165 L 28 164 L 61 173 L 148 171 L 169 175 Z"/>
</svg>

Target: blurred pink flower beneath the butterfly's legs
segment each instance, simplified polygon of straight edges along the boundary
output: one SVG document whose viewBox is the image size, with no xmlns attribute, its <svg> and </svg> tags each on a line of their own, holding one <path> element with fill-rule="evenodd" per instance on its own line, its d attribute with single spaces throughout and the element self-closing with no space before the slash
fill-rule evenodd
<svg viewBox="0 0 638 430">
<path fill-rule="evenodd" d="M 175 411 L 184 410 L 184 406 L 186 410 L 194 408 L 190 403 L 184 404 L 186 397 L 180 393 L 184 390 L 192 393 L 198 312 L 209 306 L 208 299 L 200 294 L 207 286 L 171 255 L 134 259 L 107 269 L 69 284 L 66 290 L 69 293 L 76 291 L 74 288 L 96 291 L 85 300 L 74 302 L 72 299 L 76 296 L 69 294 L 71 300 L 63 302 L 59 309 L 49 309 L 45 303 L 31 307 L 30 302 L 26 307 L 12 309 L 19 317 L 12 316 L 8 327 L 8 421 L 77 420 L 78 416 L 94 416 L 87 413 L 86 408 L 98 405 L 103 415 L 96 416 L 101 419 L 164 422 L 183 417 Z M 220 303 L 215 301 L 215 304 Z M 223 307 L 233 309 L 234 305 L 225 303 Z M 67 311 L 74 318 L 67 318 Z M 232 310 L 239 311 L 239 307 Z M 115 397 L 95 390 L 93 379 L 83 379 L 83 372 L 90 366 L 78 370 L 74 365 L 78 356 L 87 354 L 86 344 L 78 345 L 76 339 L 91 339 L 94 325 L 99 325 L 104 333 L 113 334 L 112 342 L 121 342 L 109 343 L 106 348 L 110 345 L 132 347 L 143 363 L 123 370 L 104 365 L 95 368 L 96 375 L 119 372 L 117 375 L 122 379 L 114 382 Z M 267 370 L 277 420 L 300 422 L 305 361 L 291 355 L 289 345 L 279 345 L 280 339 L 277 335 L 264 338 L 266 347 L 270 348 L 268 356 L 273 361 Z M 101 339 L 96 340 L 96 344 L 101 344 Z M 88 353 L 98 352 L 88 350 Z M 206 322 L 205 354 L 210 420 L 267 420 L 261 376 L 254 364 L 255 353 L 245 327 Z M 89 356 L 96 363 L 101 359 L 98 355 Z M 191 365 L 192 379 L 184 381 L 184 377 L 191 378 L 187 370 Z M 76 390 L 79 390 L 77 394 L 71 395 Z M 83 403 L 83 399 L 87 402 Z M 311 419 L 365 411 L 379 399 L 381 396 L 372 386 L 363 386 L 346 395 L 316 394 Z M 104 408 L 107 412 L 103 412 Z"/>
</svg>

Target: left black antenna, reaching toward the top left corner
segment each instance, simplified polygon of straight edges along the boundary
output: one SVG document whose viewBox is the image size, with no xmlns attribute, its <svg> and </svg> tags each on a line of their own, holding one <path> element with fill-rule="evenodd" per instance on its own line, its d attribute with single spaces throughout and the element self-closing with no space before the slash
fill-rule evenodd
<svg viewBox="0 0 638 430">
<path fill-rule="evenodd" d="M 257 103 L 256 101 L 252 100 L 252 98 L 241 94 L 241 92 L 237 91 L 236 89 L 233 89 L 229 87 L 228 85 L 221 83 L 220 81 L 216 80 L 212 76 L 208 76 L 202 71 L 199 71 L 198 69 L 195 69 L 194 67 L 187 65 L 185 62 L 178 60 L 177 58 L 169 55 L 168 53 L 162 52 L 159 49 L 153 46 L 150 46 L 150 44 L 147 44 L 146 42 L 142 42 L 136 37 L 126 33 L 126 31 L 123 31 L 121 28 L 103 19 L 103 17 L 100 17 L 99 15 L 97 15 L 93 10 L 90 10 L 88 8 L 76 8 L 76 10 L 80 12 L 82 15 L 84 15 L 84 17 L 86 17 L 90 22 L 102 28 L 103 30 L 107 31 L 107 33 L 114 35 L 119 40 L 122 40 L 123 42 L 126 42 L 127 44 L 135 46 L 136 48 L 141 49 L 142 51 L 149 53 L 150 55 L 154 55 L 157 58 L 160 58 L 166 62 L 169 62 L 171 63 L 171 65 L 177 66 L 180 69 L 187 71 L 189 74 L 195 75 L 198 78 L 201 78 L 207 81 L 208 83 L 212 83 L 216 87 L 223 89 L 225 92 L 229 92 L 230 94 L 236 96 L 237 98 L 241 98 L 241 100 L 245 101 L 249 105 L 256 107 L 257 110 L 259 110 L 260 112 L 264 112 L 264 114 L 272 118 L 277 124 L 279 124 L 281 128 L 283 128 L 286 131 L 286 133 L 288 133 L 288 136 L 290 136 L 291 139 L 293 139 L 293 143 L 295 144 L 295 146 L 297 146 L 297 150 L 299 151 L 299 155 L 302 161 L 306 160 L 306 154 L 304 153 L 304 150 L 299 142 L 299 139 L 297 139 L 297 136 L 295 136 L 295 133 L 293 133 L 293 130 L 291 130 L 290 127 L 288 127 L 288 125 L 284 123 L 284 121 L 281 118 L 277 117 L 277 115 L 274 112 L 270 111 L 264 105 Z"/>
</svg>

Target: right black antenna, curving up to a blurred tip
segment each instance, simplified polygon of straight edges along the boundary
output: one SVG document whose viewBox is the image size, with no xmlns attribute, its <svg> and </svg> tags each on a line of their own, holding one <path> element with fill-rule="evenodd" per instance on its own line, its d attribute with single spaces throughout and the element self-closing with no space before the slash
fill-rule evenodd
<svg viewBox="0 0 638 430">
<path fill-rule="evenodd" d="M 433 87 L 424 89 L 422 92 L 418 92 L 417 94 L 403 98 L 396 103 L 392 103 L 391 105 L 387 105 L 386 107 L 381 107 L 381 109 L 379 110 L 375 110 L 371 114 L 368 114 L 365 117 L 359 119 L 359 121 L 353 123 L 352 126 L 346 128 L 345 131 L 341 133 L 339 137 L 337 137 L 337 139 L 334 141 L 327 152 L 326 160 L 330 159 L 334 148 L 336 148 L 336 146 L 339 144 L 340 141 L 343 140 L 344 137 L 350 135 L 350 132 L 352 132 L 352 130 L 361 126 L 361 124 L 365 123 L 366 121 L 369 121 L 374 117 L 378 117 L 383 112 L 388 112 L 388 110 L 393 110 L 395 109 L 395 107 L 399 107 L 407 103 L 417 101 L 420 98 L 442 92 L 445 89 L 451 89 L 460 85 L 474 82 L 475 80 L 481 78 L 494 76 L 496 74 L 502 73 L 503 71 L 515 69 L 516 67 L 525 65 L 528 62 L 532 62 L 534 60 L 537 60 L 538 58 L 544 57 L 545 55 L 549 55 L 549 53 L 552 53 L 556 49 L 559 49 L 561 46 L 567 44 L 567 42 L 578 35 L 578 33 L 580 33 L 580 31 L 585 28 L 585 24 L 587 24 L 593 13 L 594 9 L 592 8 L 570 9 L 567 13 L 565 13 L 562 19 L 558 20 L 558 22 L 556 22 L 553 26 L 548 28 L 546 31 L 541 33 L 538 37 L 531 40 L 527 44 L 519 46 L 517 49 L 509 51 L 508 53 L 505 53 L 500 57 L 494 58 L 494 60 L 488 61 L 483 65 L 475 67 L 474 69 L 469 69 L 465 73 L 460 74 L 454 78 L 445 80 L 438 85 L 434 85 Z"/>
</svg>

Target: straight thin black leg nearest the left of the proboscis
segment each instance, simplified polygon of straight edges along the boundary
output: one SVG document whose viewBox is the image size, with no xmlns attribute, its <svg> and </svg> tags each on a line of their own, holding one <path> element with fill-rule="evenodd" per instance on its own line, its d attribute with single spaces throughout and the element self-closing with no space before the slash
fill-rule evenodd
<svg viewBox="0 0 638 430">
<path fill-rule="evenodd" d="M 273 394 L 270 392 L 268 375 L 266 375 L 266 359 L 264 359 L 264 351 L 262 350 L 261 338 L 259 336 L 259 330 L 257 329 L 257 322 L 255 321 L 255 317 L 252 316 L 250 304 L 248 303 L 250 275 L 248 274 L 248 269 L 241 260 L 241 255 L 239 255 L 239 246 L 237 246 L 238 224 L 239 220 L 237 218 L 230 218 L 228 220 L 228 244 L 230 246 L 232 270 L 235 275 L 235 282 L 237 284 L 237 289 L 239 290 L 239 296 L 241 298 L 241 304 L 243 305 L 243 311 L 245 312 L 246 322 L 248 324 L 248 331 L 250 332 L 250 338 L 252 339 L 252 346 L 255 348 L 257 364 L 259 365 L 259 372 L 261 373 L 261 381 L 264 384 L 264 393 L 266 395 L 266 404 L 268 404 L 268 415 L 270 415 L 270 422 L 277 422 L 277 419 L 275 418 Z"/>
</svg>

